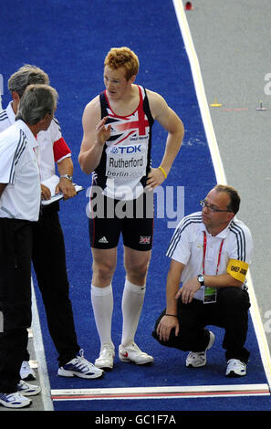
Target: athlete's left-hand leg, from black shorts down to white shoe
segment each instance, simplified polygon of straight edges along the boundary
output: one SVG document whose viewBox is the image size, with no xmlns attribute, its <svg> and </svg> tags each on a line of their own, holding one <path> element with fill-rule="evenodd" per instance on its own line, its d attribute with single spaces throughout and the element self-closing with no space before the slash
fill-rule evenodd
<svg viewBox="0 0 271 429">
<path fill-rule="evenodd" d="M 89 217 L 89 242 L 93 259 L 91 302 L 100 340 L 99 358 L 95 365 L 105 370 L 113 368 L 115 356 L 111 338 L 113 313 L 111 282 L 117 265 L 120 238 L 120 220 L 114 214 L 115 204 L 116 201 L 99 195 L 98 207 L 104 207 L 104 212 L 91 211 Z"/>
</svg>

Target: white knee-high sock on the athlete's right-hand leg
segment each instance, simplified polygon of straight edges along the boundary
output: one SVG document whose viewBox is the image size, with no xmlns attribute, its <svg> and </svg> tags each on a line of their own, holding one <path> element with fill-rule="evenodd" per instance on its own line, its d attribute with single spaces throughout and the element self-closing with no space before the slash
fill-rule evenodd
<svg viewBox="0 0 271 429">
<path fill-rule="evenodd" d="M 126 279 L 122 295 L 122 337 L 121 344 L 128 346 L 134 341 L 141 317 L 141 309 L 145 298 L 146 285 L 137 286 Z"/>
</svg>

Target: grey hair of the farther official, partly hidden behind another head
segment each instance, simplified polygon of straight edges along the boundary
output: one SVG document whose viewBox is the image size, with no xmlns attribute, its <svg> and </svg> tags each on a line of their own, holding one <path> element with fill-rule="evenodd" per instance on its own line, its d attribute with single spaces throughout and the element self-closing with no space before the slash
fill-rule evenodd
<svg viewBox="0 0 271 429">
<path fill-rule="evenodd" d="M 25 66 L 19 68 L 13 75 L 11 75 L 8 79 L 7 86 L 11 93 L 16 91 L 21 99 L 28 85 L 49 85 L 49 83 L 50 80 L 45 71 L 36 66 L 25 64 Z"/>
</svg>

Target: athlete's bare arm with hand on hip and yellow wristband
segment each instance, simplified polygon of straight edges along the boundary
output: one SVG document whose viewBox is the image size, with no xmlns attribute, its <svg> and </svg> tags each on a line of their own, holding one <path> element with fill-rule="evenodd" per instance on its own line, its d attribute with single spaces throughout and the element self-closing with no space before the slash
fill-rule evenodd
<svg viewBox="0 0 271 429">
<path fill-rule="evenodd" d="M 160 166 L 168 175 L 172 168 L 172 163 L 179 152 L 184 129 L 182 120 L 176 113 L 168 106 L 165 99 L 156 92 L 147 90 L 147 95 L 150 103 L 151 115 L 154 120 L 157 120 L 162 127 L 168 131 L 165 151 L 162 157 Z M 162 170 L 159 168 L 152 168 L 149 173 L 147 185 L 155 188 L 165 180 Z"/>
</svg>

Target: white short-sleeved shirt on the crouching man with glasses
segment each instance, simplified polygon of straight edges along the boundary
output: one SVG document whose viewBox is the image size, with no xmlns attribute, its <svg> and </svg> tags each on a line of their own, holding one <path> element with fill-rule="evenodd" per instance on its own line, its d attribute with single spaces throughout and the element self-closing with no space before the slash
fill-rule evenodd
<svg viewBox="0 0 271 429">
<path fill-rule="evenodd" d="M 251 263 L 253 240 L 248 227 L 242 221 L 235 217 L 221 233 L 213 236 L 203 225 L 202 212 L 196 212 L 185 216 L 176 227 L 166 253 L 167 256 L 185 265 L 182 283 L 203 274 L 204 233 L 206 236 L 204 274 L 209 276 L 225 274 L 230 269 L 238 270 L 239 265 L 243 267 Z M 234 261 L 232 265 L 231 260 Z M 203 288 L 194 294 L 194 298 L 203 300 Z"/>
</svg>

